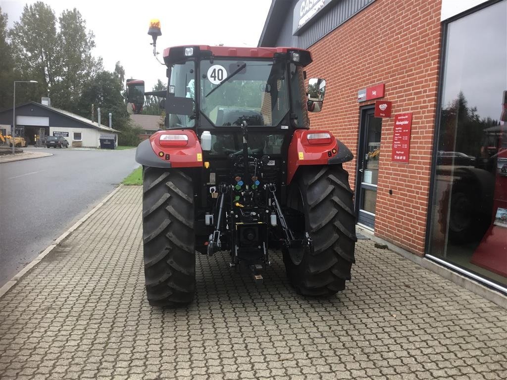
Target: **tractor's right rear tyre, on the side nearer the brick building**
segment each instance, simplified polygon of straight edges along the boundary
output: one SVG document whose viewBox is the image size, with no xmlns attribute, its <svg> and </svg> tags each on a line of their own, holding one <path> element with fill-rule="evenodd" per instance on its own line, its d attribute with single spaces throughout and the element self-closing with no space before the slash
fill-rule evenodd
<svg viewBox="0 0 507 380">
<path fill-rule="evenodd" d="M 329 296 L 345 289 L 355 262 L 355 213 L 342 165 L 306 166 L 289 188 L 289 206 L 304 214 L 314 252 L 297 263 L 282 249 L 287 277 L 298 294 Z"/>
</svg>

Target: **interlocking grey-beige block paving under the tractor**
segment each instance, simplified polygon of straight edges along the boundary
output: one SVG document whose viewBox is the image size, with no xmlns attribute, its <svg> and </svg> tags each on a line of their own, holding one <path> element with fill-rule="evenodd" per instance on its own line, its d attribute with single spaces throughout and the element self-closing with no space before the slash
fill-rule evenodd
<svg viewBox="0 0 507 380">
<path fill-rule="evenodd" d="M 218 255 L 187 309 L 152 308 L 140 200 L 120 189 L 0 299 L 0 378 L 507 378 L 507 311 L 369 240 L 331 299 L 279 255 L 261 286 Z"/>
</svg>

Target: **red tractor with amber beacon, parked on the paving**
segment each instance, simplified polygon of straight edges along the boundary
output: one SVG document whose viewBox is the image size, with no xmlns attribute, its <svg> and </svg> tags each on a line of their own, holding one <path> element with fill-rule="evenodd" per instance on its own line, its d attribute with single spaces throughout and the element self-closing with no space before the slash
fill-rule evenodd
<svg viewBox="0 0 507 380">
<path fill-rule="evenodd" d="M 152 22 L 155 44 L 161 35 Z M 291 48 L 177 46 L 164 50 L 168 89 L 127 83 L 128 109 L 165 99 L 165 130 L 139 144 L 143 251 L 150 305 L 179 306 L 195 292 L 196 252 L 227 251 L 231 267 L 263 281 L 269 250 L 304 295 L 335 294 L 350 280 L 355 215 L 344 162 L 350 150 L 310 130 L 325 81 L 310 52 Z"/>
</svg>

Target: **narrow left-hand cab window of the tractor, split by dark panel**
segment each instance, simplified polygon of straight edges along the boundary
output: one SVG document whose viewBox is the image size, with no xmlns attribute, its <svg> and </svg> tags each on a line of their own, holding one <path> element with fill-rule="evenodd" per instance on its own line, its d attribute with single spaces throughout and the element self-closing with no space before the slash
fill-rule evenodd
<svg viewBox="0 0 507 380">
<path fill-rule="evenodd" d="M 172 65 L 169 93 L 172 92 L 176 97 L 191 98 L 195 101 L 194 84 L 195 63 L 193 61 Z M 169 128 L 192 128 L 195 125 L 193 116 L 176 115 L 175 113 L 169 113 L 167 116 Z"/>
</svg>

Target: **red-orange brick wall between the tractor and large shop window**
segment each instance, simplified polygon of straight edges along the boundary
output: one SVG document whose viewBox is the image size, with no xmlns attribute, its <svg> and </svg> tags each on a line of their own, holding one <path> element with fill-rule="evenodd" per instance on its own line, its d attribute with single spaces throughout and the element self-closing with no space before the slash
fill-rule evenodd
<svg viewBox="0 0 507 380">
<path fill-rule="evenodd" d="M 312 47 L 308 78 L 327 80 L 312 128 L 330 129 L 356 155 L 357 91 L 385 83 L 392 115 L 412 112 L 409 164 L 391 162 L 394 118 L 382 120 L 375 235 L 424 254 L 441 46 L 440 0 L 378 0 Z M 354 186 L 356 161 L 344 165 Z M 389 195 L 389 189 L 393 194 Z"/>
</svg>

